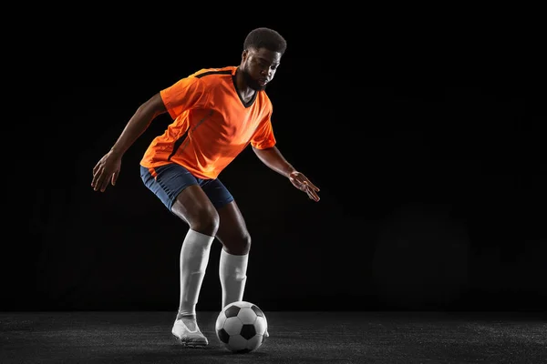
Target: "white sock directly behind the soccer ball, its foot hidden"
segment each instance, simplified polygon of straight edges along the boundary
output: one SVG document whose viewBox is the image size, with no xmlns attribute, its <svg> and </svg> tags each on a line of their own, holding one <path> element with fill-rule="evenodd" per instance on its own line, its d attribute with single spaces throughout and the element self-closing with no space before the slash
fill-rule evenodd
<svg viewBox="0 0 547 364">
<path fill-rule="evenodd" d="M 219 276 L 222 286 L 222 308 L 225 308 L 226 305 L 232 302 L 243 299 L 243 291 L 245 290 L 245 282 L 247 281 L 248 261 L 249 254 L 236 256 L 226 252 L 222 248 L 219 264 Z"/>
</svg>

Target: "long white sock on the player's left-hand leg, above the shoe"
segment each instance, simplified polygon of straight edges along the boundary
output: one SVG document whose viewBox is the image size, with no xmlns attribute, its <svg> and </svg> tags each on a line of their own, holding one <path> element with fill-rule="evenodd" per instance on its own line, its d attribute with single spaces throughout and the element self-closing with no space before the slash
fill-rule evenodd
<svg viewBox="0 0 547 364">
<path fill-rule="evenodd" d="M 200 296 L 201 283 L 205 276 L 209 252 L 214 237 L 201 234 L 195 230 L 188 230 L 182 242 L 180 272 L 181 297 L 178 318 L 196 316 L 196 304 Z M 191 328 L 189 328 L 191 329 Z"/>
</svg>

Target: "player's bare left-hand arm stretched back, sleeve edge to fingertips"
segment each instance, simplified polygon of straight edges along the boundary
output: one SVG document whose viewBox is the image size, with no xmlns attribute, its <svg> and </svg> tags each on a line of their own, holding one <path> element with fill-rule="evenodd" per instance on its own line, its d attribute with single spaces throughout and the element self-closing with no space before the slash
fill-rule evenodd
<svg viewBox="0 0 547 364">
<path fill-rule="evenodd" d="M 116 185 L 121 168 L 121 158 L 125 152 L 135 143 L 139 136 L 146 131 L 153 119 L 167 112 L 160 93 L 150 97 L 148 101 L 139 106 L 135 114 L 131 116 L 114 146 L 98 161 L 93 168 L 93 180 L 91 187 L 95 191 L 104 192 L 108 183 Z"/>
</svg>

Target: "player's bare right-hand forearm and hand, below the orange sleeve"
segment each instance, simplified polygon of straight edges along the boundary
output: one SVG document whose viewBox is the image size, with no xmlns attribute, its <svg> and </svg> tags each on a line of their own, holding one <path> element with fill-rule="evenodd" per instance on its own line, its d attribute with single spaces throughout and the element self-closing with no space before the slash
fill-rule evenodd
<svg viewBox="0 0 547 364">
<path fill-rule="evenodd" d="M 279 173 L 280 175 L 289 178 L 294 187 L 305 192 L 308 197 L 315 202 L 319 201 L 319 188 L 316 187 L 303 173 L 297 171 L 281 154 L 277 147 L 267 147 L 259 149 L 253 147 L 253 152 L 256 154 L 264 165 Z"/>
</svg>

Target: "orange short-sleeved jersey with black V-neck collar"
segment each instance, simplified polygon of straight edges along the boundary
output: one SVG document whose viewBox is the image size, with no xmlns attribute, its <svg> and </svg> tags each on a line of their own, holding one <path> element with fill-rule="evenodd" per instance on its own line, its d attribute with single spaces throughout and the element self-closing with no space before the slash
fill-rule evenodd
<svg viewBox="0 0 547 364">
<path fill-rule="evenodd" d="M 201 69 L 160 91 L 173 122 L 152 140 L 141 166 L 177 163 L 195 177 L 214 179 L 249 144 L 274 147 L 272 102 L 258 91 L 244 103 L 236 69 Z"/>
</svg>

